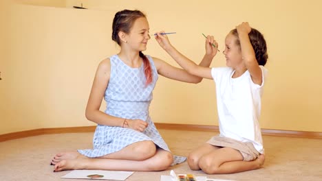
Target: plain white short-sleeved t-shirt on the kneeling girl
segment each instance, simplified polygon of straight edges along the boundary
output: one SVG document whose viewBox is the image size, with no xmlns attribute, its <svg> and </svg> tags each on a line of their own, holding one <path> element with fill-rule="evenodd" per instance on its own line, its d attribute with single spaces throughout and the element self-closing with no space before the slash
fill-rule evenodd
<svg viewBox="0 0 322 181">
<path fill-rule="evenodd" d="M 253 82 L 249 71 L 232 78 L 235 71 L 230 67 L 213 68 L 211 75 L 216 84 L 220 136 L 249 141 L 264 154 L 259 116 L 267 69 L 259 67 L 263 74 L 261 85 Z"/>
</svg>

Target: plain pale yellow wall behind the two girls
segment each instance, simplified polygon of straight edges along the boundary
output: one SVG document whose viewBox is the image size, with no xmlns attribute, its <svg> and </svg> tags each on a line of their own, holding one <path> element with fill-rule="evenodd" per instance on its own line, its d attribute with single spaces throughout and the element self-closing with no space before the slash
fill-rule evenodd
<svg viewBox="0 0 322 181">
<path fill-rule="evenodd" d="M 213 34 L 224 50 L 230 29 L 250 22 L 268 43 L 261 127 L 322 132 L 318 0 L 10 2 L 0 1 L 0 134 L 94 125 L 85 119 L 87 97 L 98 62 L 118 52 L 111 21 L 125 8 L 145 12 L 151 33 L 177 32 L 169 35 L 172 44 L 195 62 L 204 54 L 202 33 Z M 72 8 L 81 3 L 89 9 Z M 144 53 L 177 66 L 153 38 Z M 219 53 L 211 66 L 224 64 Z M 160 77 L 151 117 L 156 123 L 217 125 L 215 100 L 212 80 L 186 84 Z"/>
</svg>

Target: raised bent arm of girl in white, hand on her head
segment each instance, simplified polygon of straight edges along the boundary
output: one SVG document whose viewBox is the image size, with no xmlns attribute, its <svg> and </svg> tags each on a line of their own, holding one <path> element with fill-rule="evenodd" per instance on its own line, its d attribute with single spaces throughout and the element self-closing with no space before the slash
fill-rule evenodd
<svg viewBox="0 0 322 181">
<path fill-rule="evenodd" d="M 249 24 L 246 22 L 241 23 L 236 27 L 238 32 L 238 37 L 240 41 L 241 47 L 241 55 L 243 56 L 243 60 L 246 64 L 246 67 L 252 77 L 252 80 L 255 84 L 261 85 L 262 83 L 262 73 L 261 68 L 258 65 L 256 60 L 255 51 L 253 49 L 252 44 L 250 43 L 250 39 L 248 34 L 252 30 Z"/>
</svg>

